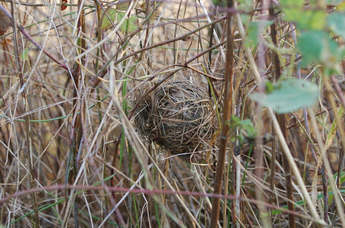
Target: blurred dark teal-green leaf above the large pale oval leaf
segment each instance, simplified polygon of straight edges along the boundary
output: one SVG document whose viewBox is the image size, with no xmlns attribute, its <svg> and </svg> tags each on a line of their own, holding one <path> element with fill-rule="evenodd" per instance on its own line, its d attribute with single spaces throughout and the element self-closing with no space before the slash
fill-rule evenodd
<svg viewBox="0 0 345 228">
<path fill-rule="evenodd" d="M 329 70 L 341 71 L 341 53 L 338 45 L 327 32 L 308 31 L 297 38 L 298 49 L 302 53 L 302 65 L 316 61 Z"/>
</svg>

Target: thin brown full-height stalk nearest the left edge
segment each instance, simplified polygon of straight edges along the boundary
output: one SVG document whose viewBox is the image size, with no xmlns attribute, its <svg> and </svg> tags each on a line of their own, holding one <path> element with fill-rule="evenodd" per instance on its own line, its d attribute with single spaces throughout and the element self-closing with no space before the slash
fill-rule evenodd
<svg viewBox="0 0 345 228">
<path fill-rule="evenodd" d="M 22 66 L 20 63 L 20 54 L 19 54 L 19 44 L 18 44 L 18 36 L 17 36 L 17 23 L 16 17 L 14 16 L 14 1 L 11 0 L 11 16 L 12 16 L 12 29 L 13 29 L 13 42 L 14 42 L 14 53 L 16 55 L 16 67 L 17 67 L 17 74 L 19 77 L 19 84 L 21 88 L 21 94 L 23 97 L 23 106 L 24 112 L 29 113 L 29 104 L 26 97 L 26 91 L 24 84 L 24 78 L 22 73 Z M 29 114 L 25 115 L 25 128 L 26 128 L 26 146 L 28 150 L 28 165 L 29 165 L 29 176 L 30 176 L 30 187 L 32 189 L 35 188 L 35 176 L 33 171 L 33 162 L 32 162 L 32 141 L 31 141 L 31 124 L 30 124 L 30 116 Z M 40 217 L 38 214 L 38 202 L 37 202 L 37 194 L 35 191 L 32 192 L 32 205 L 35 214 L 35 225 L 36 227 L 40 227 Z"/>
</svg>

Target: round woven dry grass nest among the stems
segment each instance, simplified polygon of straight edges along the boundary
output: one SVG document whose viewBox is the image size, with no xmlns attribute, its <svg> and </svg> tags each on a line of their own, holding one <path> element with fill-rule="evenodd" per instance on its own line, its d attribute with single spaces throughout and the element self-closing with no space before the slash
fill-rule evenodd
<svg viewBox="0 0 345 228">
<path fill-rule="evenodd" d="M 135 124 L 141 138 L 154 140 L 172 154 L 198 151 L 215 132 L 214 110 L 206 89 L 195 80 L 181 79 L 168 81 L 144 97 L 153 85 L 147 83 L 135 93 L 139 102 Z"/>
</svg>

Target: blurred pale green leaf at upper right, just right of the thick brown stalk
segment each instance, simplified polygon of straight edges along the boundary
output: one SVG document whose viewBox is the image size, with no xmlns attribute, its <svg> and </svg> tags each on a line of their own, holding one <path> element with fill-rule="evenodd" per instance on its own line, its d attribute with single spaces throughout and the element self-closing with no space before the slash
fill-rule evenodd
<svg viewBox="0 0 345 228">
<path fill-rule="evenodd" d="M 251 21 L 248 25 L 248 36 L 245 45 L 250 47 L 256 46 L 258 44 L 258 36 L 263 34 L 272 23 L 273 21 L 266 20 Z"/>
</svg>

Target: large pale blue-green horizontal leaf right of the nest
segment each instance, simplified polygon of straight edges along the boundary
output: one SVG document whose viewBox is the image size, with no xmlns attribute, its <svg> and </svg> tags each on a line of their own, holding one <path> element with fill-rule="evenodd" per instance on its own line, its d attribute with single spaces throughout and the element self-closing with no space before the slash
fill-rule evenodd
<svg viewBox="0 0 345 228">
<path fill-rule="evenodd" d="M 289 79 L 270 94 L 255 93 L 250 98 L 264 107 L 272 107 L 277 113 L 288 113 L 312 106 L 318 96 L 316 84 L 305 81 L 301 86 L 300 80 Z"/>
</svg>

